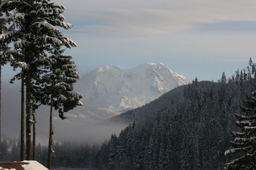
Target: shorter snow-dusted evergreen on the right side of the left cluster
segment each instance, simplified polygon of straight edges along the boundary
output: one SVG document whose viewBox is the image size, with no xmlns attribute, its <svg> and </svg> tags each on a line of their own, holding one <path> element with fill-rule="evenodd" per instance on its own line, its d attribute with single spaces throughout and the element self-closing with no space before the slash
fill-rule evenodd
<svg viewBox="0 0 256 170">
<path fill-rule="evenodd" d="M 42 77 L 44 82 L 43 94 L 51 96 L 50 105 L 50 124 L 49 124 L 49 148 L 48 148 L 48 169 L 51 168 L 51 153 L 53 152 L 53 125 L 52 114 L 53 107 L 59 111 L 59 117 L 65 119 L 64 113 L 76 106 L 82 105 L 80 99 L 82 94 L 73 92 L 73 84 L 79 80 L 79 74 L 76 72 L 76 65 L 71 60 L 71 56 L 63 56 L 59 51 L 55 52 L 50 59 L 52 60 L 51 72 Z"/>
</svg>

